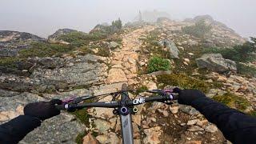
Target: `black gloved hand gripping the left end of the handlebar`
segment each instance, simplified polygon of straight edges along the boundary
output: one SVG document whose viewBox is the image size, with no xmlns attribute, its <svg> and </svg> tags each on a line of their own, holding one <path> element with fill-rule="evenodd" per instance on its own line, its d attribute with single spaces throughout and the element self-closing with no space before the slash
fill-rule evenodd
<svg viewBox="0 0 256 144">
<path fill-rule="evenodd" d="M 52 118 L 55 115 L 60 114 L 60 110 L 55 108 L 55 104 L 62 104 L 59 99 L 53 99 L 50 102 L 34 102 L 25 106 L 24 114 L 30 115 L 40 120 L 45 120 L 47 118 Z"/>
</svg>

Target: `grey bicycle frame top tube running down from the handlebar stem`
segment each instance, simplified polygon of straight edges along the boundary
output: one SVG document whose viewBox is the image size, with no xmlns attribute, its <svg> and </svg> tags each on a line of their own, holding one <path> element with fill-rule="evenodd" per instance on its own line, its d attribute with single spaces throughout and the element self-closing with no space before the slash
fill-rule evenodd
<svg viewBox="0 0 256 144">
<path fill-rule="evenodd" d="M 126 85 L 122 85 L 122 90 L 126 90 Z M 121 101 L 125 102 L 130 100 L 128 92 L 121 94 Z M 133 125 L 131 121 L 131 114 L 128 107 L 122 107 L 121 109 L 128 110 L 128 114 L 119 114 L 122 127 L 122 143 L 134 144 Z"/>
</svg>

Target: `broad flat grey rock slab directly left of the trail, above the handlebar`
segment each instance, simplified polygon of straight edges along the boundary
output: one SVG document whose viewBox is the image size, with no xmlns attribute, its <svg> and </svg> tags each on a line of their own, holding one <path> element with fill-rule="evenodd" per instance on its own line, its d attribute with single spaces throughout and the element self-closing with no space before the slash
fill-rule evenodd
<svg viewBox="0 0 256 144">
<path fill-rule="evenodd" d="M 86 86 L 100 82 L 106 75 L 106 64 L 98 62 L 78 62 L 74 66 L 54 70 L 34 70 L 31 78 L 50 81 L 65 81 L 74 86 Z"/>
</svg>

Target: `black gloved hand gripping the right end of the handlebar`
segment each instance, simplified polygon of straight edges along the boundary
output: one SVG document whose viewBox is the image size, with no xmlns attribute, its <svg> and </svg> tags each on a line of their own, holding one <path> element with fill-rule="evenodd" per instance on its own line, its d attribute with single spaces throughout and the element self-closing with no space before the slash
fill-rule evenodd
<svg viewBox="0 0 256 144">
<path fill-rule="evenodd" d="M 181 90 L 174 88 L 174 93 L 178 93 L 178 103 L 191 106 L 191 103 L 198 99 L 206 97 L 200 90 Z"/>
</svg>

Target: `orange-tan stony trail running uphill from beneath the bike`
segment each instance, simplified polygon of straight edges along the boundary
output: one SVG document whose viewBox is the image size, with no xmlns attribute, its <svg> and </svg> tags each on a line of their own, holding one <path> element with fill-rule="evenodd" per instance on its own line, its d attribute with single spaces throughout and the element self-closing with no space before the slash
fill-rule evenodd
<svg viewBox="0 0 256 144">
<path fill-rule="evenodd" d="M 110 57 L 110 70 L 106 84 L 99 86 L 94 94 L 104 94 L 120 90 L 122 83 L 143 85 L 149 90 L 157 89 L 154 78 L 148 75 L 138 76 L 139 41 L 154 26 L 145 26 L 122 36 L 122 46 L 114 50 Z M 139 78 L 142 77 L 142 78 Z M 146 79 L 143 79 L 146 78 Z M 133 95 L 130 95 L 133 97 Z M 101 101 L 110 101 L 111 96 Z M 122 143 L 121 124 L 118 116 L 110 109 L 92 108 L 89 110 L 90 127 L 86 130 L 96 131 L 98 136 L 92 138 L 87 134 L 85 139 L 97 139 L 100 143 Z M 221 143 L 225 142 L 222 133 L 216 126 L 207 122 L 202 114 L 190 106 L 175 104 L 167 106 L 154 102 L 152 106 L 138 106 L 138 114 L 133 115 L 134 142 L 138 143 Z M 94 127 L 95 126 L 95 127 Z"/>
</svg>

